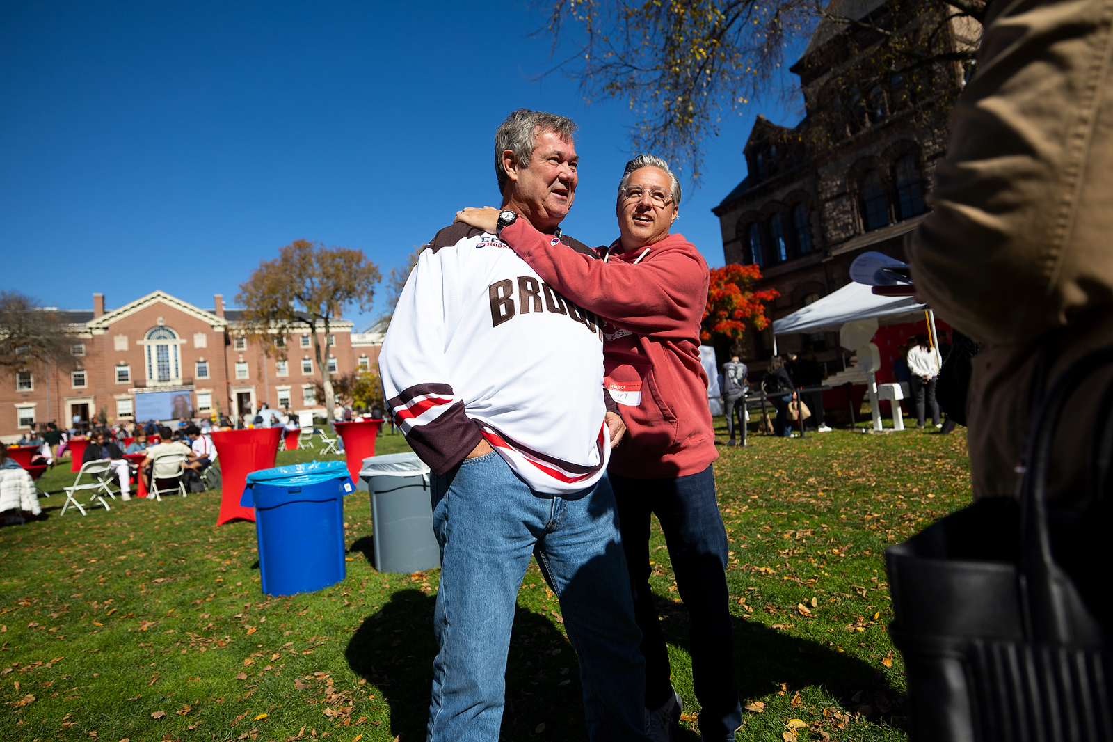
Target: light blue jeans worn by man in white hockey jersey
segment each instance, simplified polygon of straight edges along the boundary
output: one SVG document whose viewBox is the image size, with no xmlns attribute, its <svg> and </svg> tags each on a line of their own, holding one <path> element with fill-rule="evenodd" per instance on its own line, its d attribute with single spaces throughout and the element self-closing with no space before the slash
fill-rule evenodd
<svg viewBox="0 0 1113 742">
<path fill-rule="evenodd" d="M 434 481 L 433 530 L 430 742 L 499 739 L 518 588 L 534 553 L 579 657 L 589 738 L 647 742 L 641 632 L 605 475 L 567 500 L 531 490 L 498 453 L 466 459 Z"/>
</svg>

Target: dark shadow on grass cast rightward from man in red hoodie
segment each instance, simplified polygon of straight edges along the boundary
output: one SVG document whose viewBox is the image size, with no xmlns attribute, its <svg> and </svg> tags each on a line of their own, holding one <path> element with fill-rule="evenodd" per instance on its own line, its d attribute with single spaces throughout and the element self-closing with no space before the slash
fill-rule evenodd
<svg viewBox="0 0 1113 742">
<path fill-rule="evenodd" d="M 689 652 L 688 612 L 683 604 L 654 594 L 666 641 Z M 869 704 L 880 717 L 900 726 L 905 696 L 893 687 L 886 676 L 869 664 L 826 643 L 816 642 L 769 628 L 756 621 L 731 616 L 735 633 L 735 674 L 738 694 L 745 704 L 780 690 L 785 683 L 789 693 L 808 686 L 825 689 L 844 709 L 854 711 Z M 834 634 L 831 635 L 834 637 Z M 871 716 L 876 720 L 877 716 Z M 684 736 L 684 734 L 691 734 Z M 681 740 L 697 740 L 683 732 Z"/>
</svg>

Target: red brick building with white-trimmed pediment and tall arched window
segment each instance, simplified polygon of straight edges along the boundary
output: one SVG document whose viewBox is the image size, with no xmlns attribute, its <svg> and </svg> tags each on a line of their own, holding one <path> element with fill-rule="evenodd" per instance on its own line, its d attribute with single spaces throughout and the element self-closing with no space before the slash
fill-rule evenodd
<svg viewBox="0 0 1113 742">
<path fill-rule="evenodd" d="M 63 310 L 72 333 L 72 369 L 37 368 L 0 379 L 0 441 L 11 442 L 31 422 L 131 421 L 147 407 L 142 394 L 174 392 L 195 414 L 238 418 L 267 402 L 275 409 L 324 417 L 314 393 L 321 370 L 308 330 L 285 338 L 286 360 L 266 358 L 246 338 L 243 312 L 226 309 L 220 294 L 211 309 L 156 291 L 115 310 L 93 294 L 93 309 Z M 356 368 L 377 372 L 382 334 L 358 334 L 353 323 L 332 324 L 327 346 L 333 377 Z M 164 396 L 164 399 L 166 397 Z M 146 418 L 144 418 L 146 419 Z"/>
</svg>

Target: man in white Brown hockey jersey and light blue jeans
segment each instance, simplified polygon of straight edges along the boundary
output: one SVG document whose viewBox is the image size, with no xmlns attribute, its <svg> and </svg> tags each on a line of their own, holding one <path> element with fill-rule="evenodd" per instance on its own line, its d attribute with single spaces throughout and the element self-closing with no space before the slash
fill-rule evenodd
<svg viewBox="0 0 1113 742">
<path fill-rule="evenodd" d="M 499 127 L 499 230 L 525 218 L 590 253 L 559 228 L 575 196 L 574 129 L 525 109 Z M 499 739 L 518 588 L 536 554 L 579 656 L 590 739 L 646 741 L 641 632 L 607 478 L 624 426 L 607 408 L 599 320 L 496 235 L 453 224 L 421 253 L 378 363 L 394 420 L 436 476 L 427 739 Z"/>
</svg>

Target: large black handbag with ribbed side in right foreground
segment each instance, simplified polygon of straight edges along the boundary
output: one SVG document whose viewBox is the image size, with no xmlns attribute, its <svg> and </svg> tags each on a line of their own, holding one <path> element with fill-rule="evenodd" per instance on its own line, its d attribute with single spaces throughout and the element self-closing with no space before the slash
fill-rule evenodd
<svg viewBox="0 0 1113 742">
<path fill-rule="evenodd" d="M 915 742 L 1113 741 L 1113 390 L 1099 406 L 1089 510 L 1046 501 L 1066 399 L 1111 362 L 1105 349 L 1074 364 L 1033 416 L 1020 500 L 979 500 L 885 550 Z"/>
</svg>

